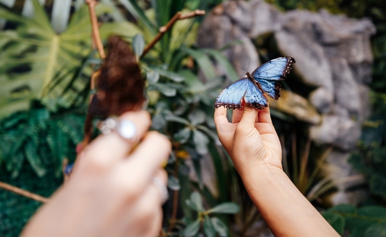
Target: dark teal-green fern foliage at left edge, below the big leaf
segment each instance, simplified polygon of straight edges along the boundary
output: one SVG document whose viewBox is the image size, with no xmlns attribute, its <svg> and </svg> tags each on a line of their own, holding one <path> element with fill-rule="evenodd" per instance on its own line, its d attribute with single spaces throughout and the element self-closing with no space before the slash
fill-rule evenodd
<svg viewBox="0 0 386 237">
<path fill-rule="evenodd" d="M 47 173 L 48 165 L 59 176 L 63 158 L 75 158 L 75 145 L 83 139 L 83 111 L 52 113 L 34 104 L 0 122 L 0 164 L 5 163 L 13 178 L 25 161 L 40 177 Z"/>
</svg>

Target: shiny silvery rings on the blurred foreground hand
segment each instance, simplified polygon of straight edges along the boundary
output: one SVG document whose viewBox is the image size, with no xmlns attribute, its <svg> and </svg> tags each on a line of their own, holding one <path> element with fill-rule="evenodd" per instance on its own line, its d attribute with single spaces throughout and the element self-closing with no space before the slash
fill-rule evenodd
<svg viewBox="0 0 386 237">
<path fill-rule="evenodd" d="M 118 120 L 116 117 L 109 117 L 98 124 L 100 132 L 109 135 L 112 131 L 118 132 L 118 135 L 124 139 L 133 139 L 137 128 L 132 121 L 128 119 Z"/>
</svg>

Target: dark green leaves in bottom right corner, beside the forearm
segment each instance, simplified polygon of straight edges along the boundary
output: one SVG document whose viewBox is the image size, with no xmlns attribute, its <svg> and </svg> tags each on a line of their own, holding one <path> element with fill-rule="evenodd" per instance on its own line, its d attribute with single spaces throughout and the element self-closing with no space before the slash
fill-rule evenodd
<svg viewBox="0 0 386 237">
<path fill-rule="evenodd" d="M 348 232 L 350 237 L 386 236 L 386 208 L 383 206 L 355 208 L 341 204 L 323 213 L 323 217 L 340 235 Z"/>
</svg>

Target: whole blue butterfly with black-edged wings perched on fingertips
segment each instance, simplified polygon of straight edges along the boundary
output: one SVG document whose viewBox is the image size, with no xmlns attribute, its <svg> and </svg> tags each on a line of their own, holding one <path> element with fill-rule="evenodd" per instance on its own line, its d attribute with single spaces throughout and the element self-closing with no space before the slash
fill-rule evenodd
<svg viewBox="0 0 386 237">
<path fill-rule="evenodd" d="M 287 77 L 293 63 L 295 59 L 287 56 L 272 59 L 256 68 L 252 73 L 247 72 L 246 77 L 238 79 L 219 93 L 215 107 L 240 109 L 244 107 L 243 100 L 245 100 L 245 104 L 254 109 L 264 109 L 268 106 L 268 100 L 263 94 L 275 100 L 280 97 L 279 80 Z"/>
</svg>

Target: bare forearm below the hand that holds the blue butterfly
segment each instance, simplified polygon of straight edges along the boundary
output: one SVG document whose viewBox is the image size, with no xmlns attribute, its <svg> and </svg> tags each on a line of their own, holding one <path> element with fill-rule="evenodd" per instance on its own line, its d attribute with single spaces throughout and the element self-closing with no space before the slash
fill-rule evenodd
<svg viewBox="0 0 386 237">
<path fill-rule="evenodd" d="M 242 181 L 275 236 L 339 236 L 278 167 L 249 169 Z"/>
</svg>

